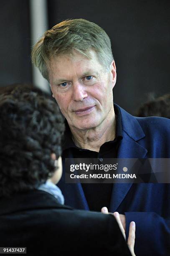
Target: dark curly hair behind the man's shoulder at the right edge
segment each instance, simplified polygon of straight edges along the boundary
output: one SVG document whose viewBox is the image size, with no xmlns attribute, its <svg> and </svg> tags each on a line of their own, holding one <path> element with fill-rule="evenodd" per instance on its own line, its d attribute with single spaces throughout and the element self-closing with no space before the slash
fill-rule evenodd
<svg viewBox="0 0 170 256">
<path fill-rule="evenodd" d="M 136 116 L 160 116 L 170 118 L 170 94 L 165 94 L 147 101 L 137 110 Z"/>
</svg>

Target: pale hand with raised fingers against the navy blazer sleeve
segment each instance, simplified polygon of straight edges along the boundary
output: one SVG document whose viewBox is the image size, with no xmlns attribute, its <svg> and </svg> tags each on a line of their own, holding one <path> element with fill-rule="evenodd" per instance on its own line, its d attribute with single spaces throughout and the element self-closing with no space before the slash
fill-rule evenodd
<svg viewBox="0 0 170 256">
<path fill-rule="evenodd" d="M 102 207 L 101 212 L 105 213 L 105 214 L 114 215 L 114 217 L 116 218 L 117 223 L 119 225 L 119 228 L 120 228 L 120 230 L 121 230 L 121 232 L 124 236 L 124 239 L 126 240 L 125 228 L 124 228 L 124 227 L 126 227 L 126 218 L 125 218 L 125 216 L 123 214 L 119 214 L 119 212 L 114 212 L 114 213 L 108 212 L 107 207 Z M 122 222 L 125 223 L 125 224 L 123 225 Z M 132 221 L 129 225 L 129 236 L 128 236 L 128 239 L 127 239 L 127 245 L 129 247 L 129 250 L 130 250 L 132 256 L 135 256 L 134 242 L 135 242 L 135 222 Z"/>
</svg>

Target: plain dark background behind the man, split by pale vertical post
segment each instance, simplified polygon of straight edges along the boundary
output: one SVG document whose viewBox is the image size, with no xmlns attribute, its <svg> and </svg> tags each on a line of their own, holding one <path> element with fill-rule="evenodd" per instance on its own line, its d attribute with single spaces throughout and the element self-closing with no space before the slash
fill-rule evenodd
<svg viewBox="0 0 170 256">
<path fill-rule="evenodd" d="M 29 0 L 0 6 L 0 86 L 32 82 Z M 49 28 L 69 18 L 104 28 L 117 65 L 114 102 L 125 110 L 134 114 L 150 92 L 170 92 L 170 1 L 48 0 L 48 17 Z"/>
</svg>

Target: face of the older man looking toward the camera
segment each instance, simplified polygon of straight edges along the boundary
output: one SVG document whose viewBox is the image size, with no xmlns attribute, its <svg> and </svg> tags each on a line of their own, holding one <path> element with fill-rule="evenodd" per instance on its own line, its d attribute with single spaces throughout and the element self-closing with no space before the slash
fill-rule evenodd
<svg viewBox="0 0 170 256">
<path fill-rule="evenodd" d="M 48 63 L 51 90 L 71 128 L 96 128 L 113 110 L 112 89 L 116 83 L 114 61 L 106 72 L 96 52 L 56 56 Z"/>
</svg>

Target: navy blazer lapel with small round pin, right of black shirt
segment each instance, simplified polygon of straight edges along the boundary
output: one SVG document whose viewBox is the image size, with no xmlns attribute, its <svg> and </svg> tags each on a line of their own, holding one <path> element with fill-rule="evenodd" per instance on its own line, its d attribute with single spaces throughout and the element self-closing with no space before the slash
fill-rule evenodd
<svg viewBox="0 0 170 256">
<path fill-rule="evenodd" d="M 137 142 L 145 137 L 145 133 L 132 115 L 120 107 L 119 109 L 121 110 L 122 116 L 123 138 L 119 145 L 117 158 L 122 158 L 124 161 L 129 158 L 145 158 L 147 149 Z M 132 183 L 113 184 L 109 208 L 110 212 L 115 212 L 117 210 L 131 187 Z"/>
</svg>

